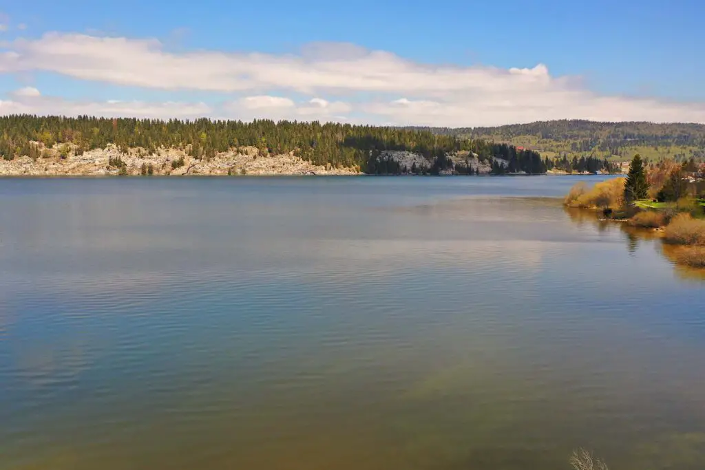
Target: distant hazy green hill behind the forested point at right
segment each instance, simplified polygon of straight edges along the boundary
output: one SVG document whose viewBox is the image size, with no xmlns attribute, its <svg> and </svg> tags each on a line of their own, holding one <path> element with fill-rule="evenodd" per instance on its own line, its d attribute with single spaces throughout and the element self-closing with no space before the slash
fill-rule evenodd
<svg viewBox="0 0 705 470">
<path fill-rule="evenodd" d="M 548 120 L 495 128 L 414 129 L 526 147 L 549 158 L 594 156 L 623 161 L 641 154 L 649 161 L 705 159 L 705 125 L 702 124 Z"/>
</svg>

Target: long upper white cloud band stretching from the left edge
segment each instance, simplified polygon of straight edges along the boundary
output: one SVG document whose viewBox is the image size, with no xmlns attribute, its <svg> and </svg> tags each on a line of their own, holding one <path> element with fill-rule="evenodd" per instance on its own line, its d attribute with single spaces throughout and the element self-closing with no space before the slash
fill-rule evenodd
<svg viewBox="0 0 705 470">
<path fill-rule="evenodd" d="M 37 40 L 17 39 L 10 49 L 17 54 L 1 57 L 0 70 L 48 70 L 84 80 L 162 89 L 289 89 L 309 94 L 321 91 L 445 96 L 508 88 L 537 92 L 568 85 L 568 80 L 551 78 L 548 69 L 541 65 L 522 70 L 427 66 L 350 44 L 319 44 L 315 54 L 304 56 L 217 51 L 171 54 L 156 39 L 48 33 Z M 341 54 L 335 54 L 337 49 Z"/>
</svg>

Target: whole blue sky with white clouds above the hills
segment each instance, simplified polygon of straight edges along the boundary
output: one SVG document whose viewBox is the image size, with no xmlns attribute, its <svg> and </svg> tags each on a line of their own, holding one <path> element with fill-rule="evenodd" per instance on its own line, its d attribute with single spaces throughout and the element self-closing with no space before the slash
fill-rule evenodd
<svg viewBox="0 0 705 470">
<path fill-rule="evenodd" d="M 0 0 L 0 114 L 705 123 L 701 0 Z"/>
</svg>

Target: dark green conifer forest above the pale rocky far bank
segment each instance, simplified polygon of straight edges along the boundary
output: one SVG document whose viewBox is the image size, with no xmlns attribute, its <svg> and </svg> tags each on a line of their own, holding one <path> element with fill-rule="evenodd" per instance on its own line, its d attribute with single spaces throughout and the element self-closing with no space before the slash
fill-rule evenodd
<svg viewBox="0 0 705 470">
<path fill-rule="evenodd" d="M 0 156 L 42 157 L 42 149 L 58 147 L 61 156 L 102 149 L 108 144 L 129 149 L 141 147 L 153 154 L 160 147 L 183 149 L 197 159 L 211 159 L 218 152 L 238 147 L 257 147 L 259 154 L 293 152 L 318 165 L 357 166 L 363 173 L 412 173 L 381 152 L 412 151 L 429 161 L 429 173 L 470 174 L 459 166 L 455 171 L 450 155 L 469 151 L 480 161 L 505 160 L 506 166 L 494 173 L 538 174 L 546 172 L 546 162 L 538 152 L 517 149 L 458 135 L 441 135 L 430 130 L 415 130 L 340 123 L 321 124 L 273 120 L 153 120 L 136 118 L 95 118 L 79 116 L 15 115 L 0 117 Z"/>
</svg>

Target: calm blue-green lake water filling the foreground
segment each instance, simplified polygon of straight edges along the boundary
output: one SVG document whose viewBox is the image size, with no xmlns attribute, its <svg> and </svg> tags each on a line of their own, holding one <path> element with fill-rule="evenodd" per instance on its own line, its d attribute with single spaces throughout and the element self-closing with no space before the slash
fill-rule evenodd
<svg viewBox="0 0 705 470">
<path fill-rule="evenodd" d="M 705 283 L 578 179 L 0 180 L 0 469 L 704 469 Z"/>
</svg>

